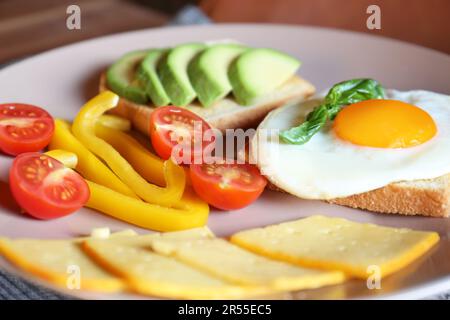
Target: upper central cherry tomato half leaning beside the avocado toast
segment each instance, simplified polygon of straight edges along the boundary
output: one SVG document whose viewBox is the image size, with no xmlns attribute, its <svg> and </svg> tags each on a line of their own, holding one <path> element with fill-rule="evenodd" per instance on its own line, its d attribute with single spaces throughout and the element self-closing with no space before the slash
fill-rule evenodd
<svg viewBox="0 0 450 320">
<path fill-rule="evenodd" d="M 215 139 L 205 136 L 208 130 L 211 127 L 205 120 L 184 108 L 159 107 L 150 117 L 150 138 L 156 153 L 164 160 L 175 156 L 179 164 L 194 163 L 194 159 L 202 162 L 203 150 Z M 185 150 L 190 154 L 184 154 Z"/>
</svg>

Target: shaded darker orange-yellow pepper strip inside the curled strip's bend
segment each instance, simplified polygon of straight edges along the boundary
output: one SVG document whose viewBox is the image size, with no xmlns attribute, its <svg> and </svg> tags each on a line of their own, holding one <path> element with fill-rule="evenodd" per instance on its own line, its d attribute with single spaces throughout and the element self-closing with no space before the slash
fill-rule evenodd
<svg viewBox="0 0 450 320">
<path fill-rule="evenodd" d="M 148 151 L 133 137 L 102 124 L 96 125 L 95 134 L 116 149 L 145 180 L 165 186 L 164 161 Z"/>
</svg>

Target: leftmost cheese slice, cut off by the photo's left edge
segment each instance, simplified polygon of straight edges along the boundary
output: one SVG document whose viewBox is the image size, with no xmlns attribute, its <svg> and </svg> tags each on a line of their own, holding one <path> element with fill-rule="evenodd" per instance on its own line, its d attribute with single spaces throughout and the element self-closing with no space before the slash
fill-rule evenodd
<svg viewBox="0 0 450 320">
<path fill-rule="evenodd" d="M 111 237 L 130 237 L 131 230 L 118 232 Z M 0 239 L 0 254 L 11 263 L 53 284 L 84 290 L 114 292 L 125 283 L 105 271 L 82 250 L 86 238 L 71 240 Z M 78 278 L 79 277 L 79 278 Z"/>
</svg>

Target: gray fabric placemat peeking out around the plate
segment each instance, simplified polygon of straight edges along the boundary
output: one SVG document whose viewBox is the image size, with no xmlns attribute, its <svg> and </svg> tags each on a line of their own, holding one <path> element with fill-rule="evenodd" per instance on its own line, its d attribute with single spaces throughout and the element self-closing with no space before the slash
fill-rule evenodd
<svg viewBox="0 0 450 320">
<path fill-rule="evenodd" d="M 169 25 L 208 24 L 211 20 L 197 7 L 186 6 L 169 23 Z M 5 65 L 0 66 L 4 67 Z M 0 270 L 0 300 L 67 300 L 73 299 L 52 290 L 20 279 Z M 450 291 L 430 299 L 450 300 Z"/>
</svg>

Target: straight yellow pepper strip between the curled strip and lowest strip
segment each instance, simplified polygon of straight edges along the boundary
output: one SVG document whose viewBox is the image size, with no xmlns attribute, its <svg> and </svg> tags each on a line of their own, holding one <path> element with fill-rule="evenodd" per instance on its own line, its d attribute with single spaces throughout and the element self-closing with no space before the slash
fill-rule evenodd
<svg viewBox="0 0 450 320">
<path fill-rule="evenodd" d="M 73 152 L 78 157 L 75 170 L 85 179 L 92 180 L 127 196 L 138 198 L 100 159 L 73 136 L 70 132 L 70 125 L 66 121 L 55 119 L 55 132 L 48 149 L 62 149 Z"/>
</svg>

